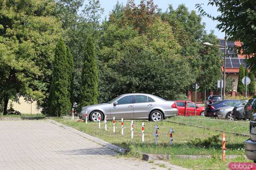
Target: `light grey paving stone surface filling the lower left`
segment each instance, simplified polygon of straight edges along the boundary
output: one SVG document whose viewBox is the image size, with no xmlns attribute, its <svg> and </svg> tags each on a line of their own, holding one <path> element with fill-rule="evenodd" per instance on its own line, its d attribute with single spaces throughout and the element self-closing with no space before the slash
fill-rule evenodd
<svg viewBox="0 0 256 170">
<path fill-rule="evenodd" d="M 0 169 L 166 169 L 118 153 L 43 120 L 0 121 Z"/>
</svg>

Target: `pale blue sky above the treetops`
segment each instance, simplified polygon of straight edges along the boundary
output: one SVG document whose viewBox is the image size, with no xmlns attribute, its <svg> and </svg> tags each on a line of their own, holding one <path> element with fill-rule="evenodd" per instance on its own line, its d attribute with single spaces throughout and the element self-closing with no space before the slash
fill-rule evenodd
<svg viewBox="0 0 256 170">
<path fill-rule="evenodd" d="M 120 3 L 126 4 L 127 0 L 118 0 Z M 113 9 L 117 0 L 100 0 L 100 4 L 102 8 L 104 8 L 104 16 L 108 16 L 109 12 Z M 138 4 L 140 0 L 135 0 L 135 3 Z M 212 14 L 213 16 L 218 16 L 220 13 L 217 12 L 217 8 L 215 6 L 207 6 L 208 0 L 154 0 L 154 4 L 158 5 L 158 8 L 162 8 L 165 11 L 168 8 L 168 4 L 172 4 L 173 8 L 176 9 L 179 4 L 185 4 L 189 11 L 196 10 L 195 4 L 204 4 L 204 10 L 208 14 Z M 197 10 L 196 10 L 197 11 Z M 104 18 L 104 17 L 102 17 Z M 224 33 L 218 31 L 216 29 L 217 22 L 212 21 L 209 18 L 202 18 L 202 22 L 206 23 L 206 30 L 209 33 L 211 29 L 214 30 L 215 35 L 218 38 L 223 38 Z"/>
</svg>

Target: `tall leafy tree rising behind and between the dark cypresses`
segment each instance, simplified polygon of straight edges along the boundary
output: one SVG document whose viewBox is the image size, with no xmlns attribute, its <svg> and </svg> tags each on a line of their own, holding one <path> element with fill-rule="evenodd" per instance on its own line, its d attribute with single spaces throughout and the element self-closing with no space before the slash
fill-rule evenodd
<svg viewBox="0 0 256 170">
<path fill-rule="evenodd" d="M 70 47 L 70 52 L 74 57 L 74 83 L 72 85 L 73 102 L 80 100 L 80 90 L 82 84 L 82 67 L 84 60 L 84 49 L 89 35 L 92 35 L 96 51 L 102 27 L 100 25 L 103 8 L 100 7 L 99 0 L 58 0 L 56 2 L 57 13 L 62 21 L 64 29 L 64 40 Z"/>
</svg>

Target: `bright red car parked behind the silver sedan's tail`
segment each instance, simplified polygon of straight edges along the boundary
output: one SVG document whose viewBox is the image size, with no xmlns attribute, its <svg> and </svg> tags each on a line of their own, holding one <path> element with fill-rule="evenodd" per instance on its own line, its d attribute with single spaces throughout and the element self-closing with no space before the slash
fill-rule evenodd
<svg viewBox="0 0 256 170">
<path fill-rule="evenodd" d="M 176 105 L 177 105 L 177 109 L 178 109 L 178 115 L 185 115 L 185 101 L 186 100 L 178 100 L 176 101 Z M 196 115 L 204 115 L 204 107 L 195 105 L 194 103 L 192 103 L 191 101 L 186 101 L 187 102 L 187 106 L 186 106 L 186 110 L 187 116 L 194 116 L 195 115 L 195 107 L 196 107 Z"/>
</svg>

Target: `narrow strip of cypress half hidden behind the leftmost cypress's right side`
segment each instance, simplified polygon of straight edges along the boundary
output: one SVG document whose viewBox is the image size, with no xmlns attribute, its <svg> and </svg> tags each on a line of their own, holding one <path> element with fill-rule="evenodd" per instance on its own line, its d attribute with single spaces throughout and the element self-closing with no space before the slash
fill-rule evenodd
<svg viewBox="0 0 256 170">
<path fill-rule="evenodd" d="M 74 73 L 73 73 L 73 70 L 74 70 L 74 61 L 73 61 L 73 56 L 70 52 L 70 49 L 69 47 L 67 47 L 67 63 L 68 63 L 68 91 L 70 92 L 70 102 L 71 102 L 71 107 L 72 107 L 72 104 L 74 103 L 74 95 L 73 95 L 73 92 L 74 92 Z"/>
</svg>

